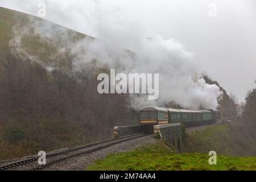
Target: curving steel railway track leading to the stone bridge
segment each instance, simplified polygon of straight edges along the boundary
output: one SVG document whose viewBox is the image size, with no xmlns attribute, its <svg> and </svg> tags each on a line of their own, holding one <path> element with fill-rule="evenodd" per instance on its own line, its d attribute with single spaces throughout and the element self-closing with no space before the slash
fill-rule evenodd
<svg viewBox="0 0 256 182">
<path fill-rule="evenodd" d="M 71 159 L 76 156 L 90 154 L 92 152 L 102 150 L 103 148 L 113 146 L 114 144 L 144 137 L 146 135 L 149 135 L 149 134 L 144 134 L 144 133 L 133 134 L 126 137 L 104 140 L 102 142 L 92 143 L 92 144 L 88 144 L 81 147 L 68 148 L 63 151 L 53 152 L 51 154 L 46 155 L 47 164 L 45 165 L 38 164 L 38 159 L 40 156 L 35 156 L 28 159 L 22 159 L 22 160 L 15 161 L 13 163 L 8 163 L 3 166 L 0 166 L 0 171 L 8 171 L 8 170 L 38 171 L 38 170 L 47 168 L 52 164 L 56 164 L 64 160 Z"/>
</svg>

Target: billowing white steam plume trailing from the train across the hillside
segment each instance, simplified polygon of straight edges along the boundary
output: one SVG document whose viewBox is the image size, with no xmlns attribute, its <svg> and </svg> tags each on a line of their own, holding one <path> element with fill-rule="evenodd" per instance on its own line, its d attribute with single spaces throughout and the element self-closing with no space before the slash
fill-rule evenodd
<svg viewBox="0 0 256 182">
<path fill-rule="evenodd" d="M 82 2 L 77 3 L 84 5 Z M 59 18 L 66 17 L 66 13 L 72 11 L 72 6 L 67 6 L 67 2 L 64 5 L 59 2 L 47 3 L 47 6 L 53 9 L 51 6 L 56 4 L 63 7 L 60 8 L 63 11 L 56 12 Z M 93 10 L 77 11 L 76 17 L 69 16 L 68 20 L 93 26 L 90 28 L 96 39 L 75 39 L 75 34 L 70 34 L 65 28 L 31 18 L 25 26 L 14 28 L 15 36 L 10 46 L 15 48 L 16 53 L 39 62 L 48 71 L 61 69 L 54 62 L 55 57 L 68 52 L 72 64 L 70 74 L 84 71 L 92 63 L 95 67 L 115 68 L 122 73 L 159 73 L 158 100 L 149 101 L 146 96 L 131 94 L 131 103 L 136 109 L 144 105 L 164 106 L 171 101 L 189 109 L 199 109 L 201 106 L 216 109 L 220 89 L 200 78 L 200 65 L 194 53 L 186 51 L 175 39 L 164 39 L 159 34 L 148 36 L 147 30 L 143 29 L 143 22 L 126 19 L 122 10 L 102 10 L 101 2 L 92 2 L 90 5 Z M 134 26 L 138 31 L 133 31 Z M 46 52 L 52 61 L 40 60 L 40 57 L 31 56 L 25 51 L 20 41 L 33 35 L 39 36 L 41 42 L 56 47 L 56 52 Z"/>
</svg>

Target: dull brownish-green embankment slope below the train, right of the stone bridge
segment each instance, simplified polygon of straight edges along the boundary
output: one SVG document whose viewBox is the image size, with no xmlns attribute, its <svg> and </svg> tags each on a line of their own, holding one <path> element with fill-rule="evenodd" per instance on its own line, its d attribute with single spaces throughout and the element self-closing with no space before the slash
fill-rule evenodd
<svg viewBox="0 0 256 182">
<path fill-rule="evenodd" d="M 256 156 L 256 143 L 240 124 L 229 123 L 187 132 L 184 152 L 216 151 L 229 156 Z"/>
</svg>

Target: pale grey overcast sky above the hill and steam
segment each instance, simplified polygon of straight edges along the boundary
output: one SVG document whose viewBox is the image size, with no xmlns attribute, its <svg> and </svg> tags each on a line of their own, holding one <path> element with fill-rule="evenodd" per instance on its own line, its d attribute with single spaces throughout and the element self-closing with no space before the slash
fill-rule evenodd
<svg viewBox="0 0 256 182">
<path fill-rule="evenodd" d="M 127 44 L 125 26 L 145 38 L 160 34 L 174 38 L 195 53 L 201 70 L 243 101 L 256 78 L 256 1 L 254 0 L 1 0 L 0 6 L 38 15 L 38 3 L 46 3 L 46 18 L 62 26 L 105 40 Z M 212 5 L 216 16 L 210 16 Z M 210 11 L 213 12 L 214 10 Z M 116 40 L 100 33 L 113 26 Z M 100 28 L 99 28 L 100 24 Z M 142 28 L 143 27 L 143 28 Z M 119 33 L 122 32 L 122 33 Z M 124 34 L 124 35 L 122 35 Z"/>
</svg>

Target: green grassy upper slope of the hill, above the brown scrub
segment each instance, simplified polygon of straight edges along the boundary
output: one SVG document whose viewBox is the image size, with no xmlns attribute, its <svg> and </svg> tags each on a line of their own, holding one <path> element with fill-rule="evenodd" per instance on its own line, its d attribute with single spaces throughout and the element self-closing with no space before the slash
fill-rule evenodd
<svg viewBox="0 0 256 182">
<path fill-rule="evenodd" d="M 51 38 L 45 40 L 40 38 L 34 30 L 36 26 L 31 25 L 34 22 L 38 27 L 51 27 L 50 29 L 56 30 L 55 39 L 58 41 L 52 42 Z M 63 36 L 63 34 L 65 35 Z M 65 40 L 63 40 L 63 37 Z M 18 38 L 22 49 L 30 56 L 35 56 L 38 62 L 46 65 L 56 65 L 68 72 L 71 69 L 70 60 L 72 55 L 67 47 L 64 46 L 66 48 L 64 52 L 60 52 L 59 48 L 85 37 L 91 38 L 47 20 L 0 7 L 0 52 L 2 57 L 6 58 L 10 52 L 10 40 Z"/>
</svg>

